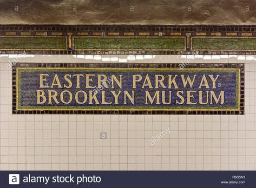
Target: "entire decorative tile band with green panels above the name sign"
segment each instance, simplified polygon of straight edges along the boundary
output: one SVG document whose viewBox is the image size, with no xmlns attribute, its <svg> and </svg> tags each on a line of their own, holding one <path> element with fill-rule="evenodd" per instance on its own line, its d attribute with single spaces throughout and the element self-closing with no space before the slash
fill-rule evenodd
<svg viewBox="0 0 256 188">
<path fill-rule="evenodd" d="M 255 37 L 255 25 L 0 25 L 0 53 L 256 55 Z"/>
</svg>

